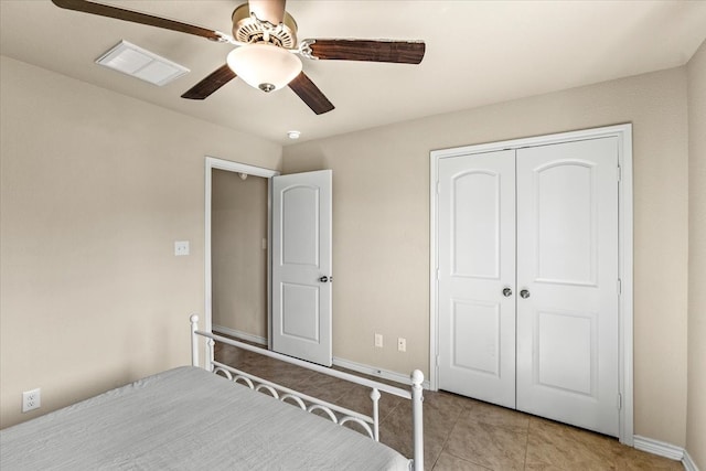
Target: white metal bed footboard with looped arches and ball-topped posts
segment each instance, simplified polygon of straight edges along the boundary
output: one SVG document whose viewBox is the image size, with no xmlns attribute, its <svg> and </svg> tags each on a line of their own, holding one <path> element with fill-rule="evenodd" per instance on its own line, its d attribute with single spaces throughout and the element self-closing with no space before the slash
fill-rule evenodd
<svg viewBox="0 0 706 471">
<path fill-rule="evenodd" d="M 405 399 L 411 400 L 411 421 L 413 421 L 413 442 L 414 442 L 414 470 L 424 470 L 424 428 L 422 428 L 422 388 L 424 374 L 419 370 L 415 370 L 411 373 L 411 388 L 410 390 L 402 389 L 387 384 L 378 383 L 376 381 L 362 378 L 349 373 L 340 372 L 338 370 L 327 368 L 313 363 L 304 362 L 302 360 L 293 358 L 291 356 L 282 355 L 280 353 L 270 352 L 268 350 L 259 349 L 247 343 L 238 342 L 225 336 L 216 335 L 211 332 L 200 331 L 197 327 L 199 317 L 193 314 L 191 317 L 191 363 L 194 366 L 202 366 L 199 361 L 199 336 L 203 336 L 208 345 L 208 358 L 205 362 L 205 368 L 216 374 L 222 374 L 228 379 L 244 384 L 255 390 L 267 392 L 275 398 L 282 402 L 295 403 L 297 406 L 307 411 L 322 410 L 325 415 L 335 424 L 343 425 L 346 422 L 355 422 L 361 426 L 367 435 L 375 441 L 379 441 L 379 414 L 378 402 L 381 392 L 385 392 Z M 373 417 L 368 417 L 364 414 L 360 414 L 355 410 L 347 409 L 345 407 L 336 406 L 321 399 L 318 399 L 306 394 L 301 394 L 293 389 L 280 386 L 276 383 L 259 378 L 249 373 L 237 370 L 233 366 L 225 365 L 223 363 L 213 361 L 213 344 L 214 341 L 218 341 L 228 345 L 237 346 L 243 350 L 255 352 L 260 355 L 269 356 L 275 360 L 287 362 L 297 366 L 304 367 L 318 373 L 322 373 L 329 376 L 344 379 L 351 383 L 355 383 L 371 388 L 371 400 L 373 404 Z"/>
</svg>

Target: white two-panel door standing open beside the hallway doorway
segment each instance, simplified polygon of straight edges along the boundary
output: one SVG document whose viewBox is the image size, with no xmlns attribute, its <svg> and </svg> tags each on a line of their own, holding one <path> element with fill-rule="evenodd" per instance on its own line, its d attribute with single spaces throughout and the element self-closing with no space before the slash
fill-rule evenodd
<svg viewBox="0 0 706 471">
<path fill-rule="evenodd" d="M 276 352 L 331 366 L 331 170 L 272 178 Z"/>
</svg>

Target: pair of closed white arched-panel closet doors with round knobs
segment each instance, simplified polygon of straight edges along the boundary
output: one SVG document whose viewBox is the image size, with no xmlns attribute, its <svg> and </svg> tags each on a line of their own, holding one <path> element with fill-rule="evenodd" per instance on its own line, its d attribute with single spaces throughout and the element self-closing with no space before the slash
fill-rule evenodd
<svg viewBox="0 0 706 471">
<path fill-rule="evenodd" d="M 439 389 L 619 436 L 619 144 L 437 157 Z"/>
</svg>

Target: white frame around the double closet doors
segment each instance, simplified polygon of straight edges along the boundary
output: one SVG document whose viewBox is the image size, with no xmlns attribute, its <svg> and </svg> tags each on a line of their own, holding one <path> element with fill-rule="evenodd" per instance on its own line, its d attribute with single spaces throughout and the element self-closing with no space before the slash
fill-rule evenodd
<svg viewBox="0 0 706 471">
<path fill-rule="evenodd" d="M 633 446 L 633 185 L 632 185 L 632 124 L 582 129 L 546 136 L 480 143 L 451 149 L 434 150 L 429 163 L 429 383 L 431 390 L 439 387 L 439 339 L 438 339 L 438 164 L 440 159 L 484 153 L 504 149 L 546 146 L 552 143 L 618 138 L 618 276 L 620 283 L 618 323 L 618 388 L 619 435 L 621 443 Z"/>
</svg>

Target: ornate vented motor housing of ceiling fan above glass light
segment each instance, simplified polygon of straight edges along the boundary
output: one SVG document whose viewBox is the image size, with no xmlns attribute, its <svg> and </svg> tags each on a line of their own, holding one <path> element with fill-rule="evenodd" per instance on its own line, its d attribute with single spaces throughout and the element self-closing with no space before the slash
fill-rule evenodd
<svg viewBox="0 0 706 471">
<path fill-rule="evenodd" d="M 287 12 L 281 24 L 271 25 L 250 14 L 247 3 L 233 11 L 233 38 L 243 43 L 269 42 L 280 47 L 297 46 L 297 22 Z"/>
</svg>

